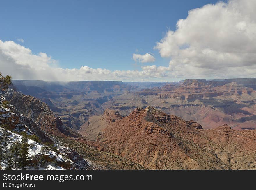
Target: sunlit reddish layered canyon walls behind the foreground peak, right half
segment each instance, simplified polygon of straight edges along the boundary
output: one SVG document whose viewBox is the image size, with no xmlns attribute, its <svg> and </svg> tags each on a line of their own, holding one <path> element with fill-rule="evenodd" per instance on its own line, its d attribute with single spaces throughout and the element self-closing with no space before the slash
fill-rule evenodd
<svg viewBox="0 0 256 190">
<path fill-rule="evenodd" d="M 205 129 L 228 124 L 232 129 L 256 128 L 256 79 L 184 80 L 159 88 L 124 93 L 103 104 L 121 115 L 136 107 L 154 106 Z"/>
</svg>

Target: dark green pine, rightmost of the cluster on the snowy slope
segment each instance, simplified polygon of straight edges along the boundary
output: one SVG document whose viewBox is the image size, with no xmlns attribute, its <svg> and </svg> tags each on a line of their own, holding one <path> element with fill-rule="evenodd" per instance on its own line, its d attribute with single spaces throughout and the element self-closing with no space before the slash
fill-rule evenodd
<svg viewBox="0 0 256 190">
<path fill-rule="evenodd" d="M 27 141 L 28 138 L 23 137 L 19 149 L 19 165 L 22 167 L 22 169 L 26 169 L 25 166 L 28 164 L 29 159 L 29 143 Z"/>
</svg>

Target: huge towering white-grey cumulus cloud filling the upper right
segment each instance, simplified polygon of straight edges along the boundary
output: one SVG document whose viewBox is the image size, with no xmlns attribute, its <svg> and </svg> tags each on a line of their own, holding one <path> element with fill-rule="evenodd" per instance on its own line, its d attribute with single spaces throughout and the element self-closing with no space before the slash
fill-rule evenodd
<svg viewBox="0 0 256 190">
<path fill-rule="evenodd" d="M 190 10 L 157 42 L 173 77 L 255 77 L 256 1 L 230 0 Z"/>
</svg>

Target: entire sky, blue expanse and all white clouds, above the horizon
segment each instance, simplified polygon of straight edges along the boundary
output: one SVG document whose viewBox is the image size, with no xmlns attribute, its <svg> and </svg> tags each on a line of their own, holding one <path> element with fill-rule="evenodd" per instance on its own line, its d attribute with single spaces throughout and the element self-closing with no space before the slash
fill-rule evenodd
<svg viewBox="0 0 256 190">
<path fill-rule="evenodd" d="M 13 79 L 255 77 L 256 1 L 2 1 Z"/>
</svg>

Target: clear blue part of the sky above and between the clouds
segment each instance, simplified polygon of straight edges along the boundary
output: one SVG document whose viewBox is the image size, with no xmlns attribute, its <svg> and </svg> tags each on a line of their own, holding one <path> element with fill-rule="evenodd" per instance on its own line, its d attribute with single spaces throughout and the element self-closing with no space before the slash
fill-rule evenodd
<svg viewBox="0 0 256 190">
<path fill-rule="evenodd" d="M 140 70 L 132 54 L 149 52 L 156 61 L 146 65 L 168 66 L 170 59 L 153 49 L 155 43 L 189 10 L 216 2 L 1 1 L 0 40 L 46 53 L 61 68 Z"/>
</svg>

